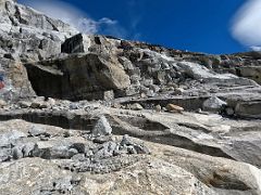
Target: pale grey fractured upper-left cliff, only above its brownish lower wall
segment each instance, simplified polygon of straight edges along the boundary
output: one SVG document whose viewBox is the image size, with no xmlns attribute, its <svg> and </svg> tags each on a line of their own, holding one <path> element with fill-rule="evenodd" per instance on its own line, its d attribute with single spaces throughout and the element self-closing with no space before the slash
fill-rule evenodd
<svg viewBox="0 0 261 195">
<path fill-rule="evenodd" d="M 37 60 L 37 53 L 42 58 L 58 54 L 61 41 L 77 32 L 61 21 L 13 1 L 2 2 L 0 15 L 1 36 L 3 41 L 10 41 L 10 47 L 3 43 L 1 48 L 5 53 L 17 56 L 27 55 Z"/>
</svg>

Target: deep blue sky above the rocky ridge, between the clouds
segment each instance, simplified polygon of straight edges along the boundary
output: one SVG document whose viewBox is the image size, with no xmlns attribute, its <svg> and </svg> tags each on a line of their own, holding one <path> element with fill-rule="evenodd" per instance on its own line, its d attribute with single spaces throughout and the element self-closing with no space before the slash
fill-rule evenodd
<svg viewBox="0 0 261 195">
<path fill-rule="evenodd" d="M 44 8 L 45 1 L 42 1 L 18 0 L 36 9 Z M 49 1 L 49 6 L 52 6 L 54 1 Z M 87 32 L 89 30 L 174 49 L 214 54 L 249 50 L 246 44 L 233 37 L 231 30 L 235 14 L 247 2 L 246 0 L 60 0 L 59 2 L 74 6 L 75 11 L 82 11 L 77 17 L 89 20 L 84 25 L 87 26 Z"/>
</svg>

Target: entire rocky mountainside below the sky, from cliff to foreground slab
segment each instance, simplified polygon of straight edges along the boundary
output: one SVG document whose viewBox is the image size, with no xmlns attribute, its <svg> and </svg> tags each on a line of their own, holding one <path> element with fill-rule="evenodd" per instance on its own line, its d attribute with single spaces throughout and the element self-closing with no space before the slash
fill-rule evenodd
<svg viewBox="0 0 261 195">
<path fill-rule="evenodd" d="M 0 194 L 260 195 L 260 68 L 0 0 Z"/>
</svg>

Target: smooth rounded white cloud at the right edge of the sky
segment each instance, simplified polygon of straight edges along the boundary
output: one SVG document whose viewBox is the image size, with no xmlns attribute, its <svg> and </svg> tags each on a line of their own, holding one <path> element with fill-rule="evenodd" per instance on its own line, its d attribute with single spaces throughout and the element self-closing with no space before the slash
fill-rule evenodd
<svg viewBox="0 0 261 195">
<path fill-rule="evenodd" d="M 232 34 L 241 44 L 261 49 L 261 0 L 248 0 L 233 18 Z"/>
</svg>

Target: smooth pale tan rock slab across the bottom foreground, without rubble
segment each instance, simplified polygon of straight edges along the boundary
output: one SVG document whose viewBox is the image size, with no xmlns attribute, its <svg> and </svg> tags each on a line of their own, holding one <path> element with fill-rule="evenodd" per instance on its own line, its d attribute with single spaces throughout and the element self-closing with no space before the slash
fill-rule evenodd
<svg viewBox="0 0 261 195">
<path fill-rule="evenodd" d="M 23 120 L 1 122 L 1 127 L 17 126 L 26 132 L 30 123 Z M 45 127 L 51 133 L 52 127 Z M 75 133 L 74 136 L 79 135 Z M 121 140 L 121 136 L 114 139 Z M 133 141 L 140 142 L 138 139 Z M 29 157 L 1 162 L 0 190 L 4 194 L 21 195 L 122 192 L 228 195 L 261 192 L 261 172 L 251 165 L 151 142 L 145 144 L 151 148 L 151 155 L 144 155 L 138 161 L 105 174 L 62 169 L 66 159 Z"/>
</svg>

